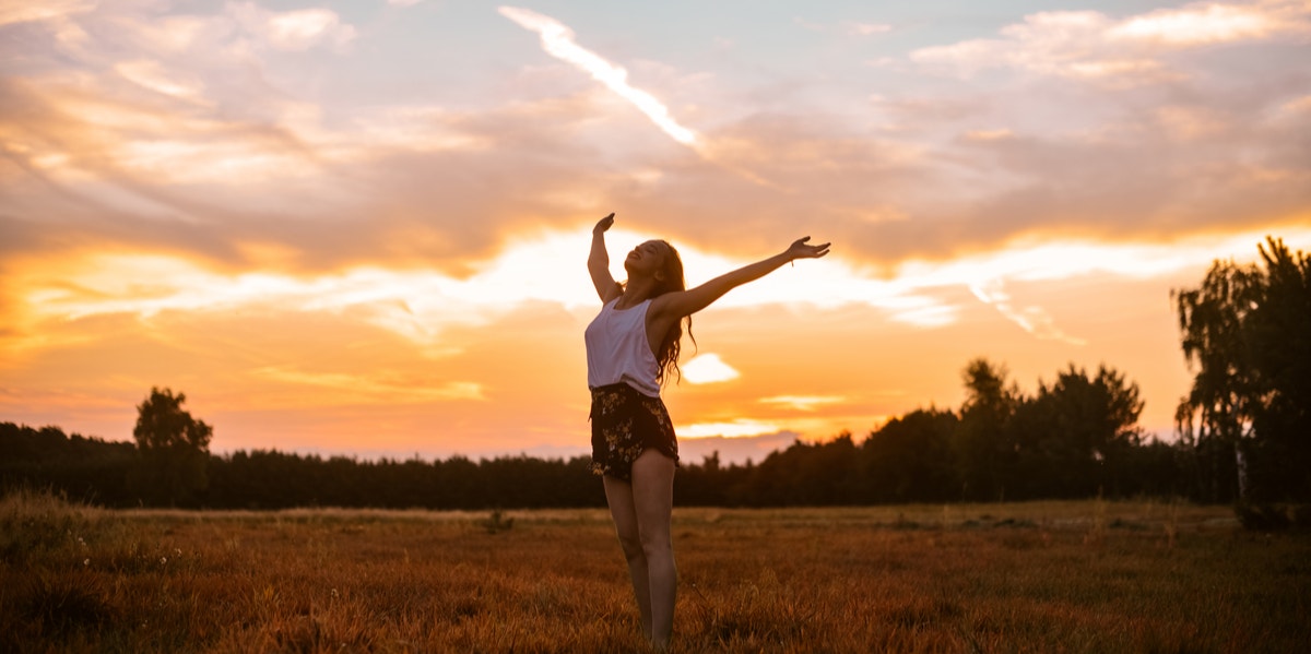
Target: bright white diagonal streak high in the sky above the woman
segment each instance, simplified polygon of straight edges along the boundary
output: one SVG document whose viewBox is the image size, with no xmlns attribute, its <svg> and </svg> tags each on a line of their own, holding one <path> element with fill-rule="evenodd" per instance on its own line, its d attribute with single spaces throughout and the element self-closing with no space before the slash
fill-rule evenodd
<svg viewBox="0 0 1311 654">
<path fill-rule="evenodd" d="M 577 66 L 604 84 L 619 97 L 627 100 L 656 123 L 671 139 L 700 153 L 700 136 L 678 125 L 669 115 L 669 109 L 654 96 L 628 84 L 628 71 L 615 66 L 600 55 L 574 42 L 574 33 L 560 21 L 518 7 L 501 7 L 501 16 L 519 24 L 520 28 L 536 31 L 541 37 L 541 47 L 552 56 Z"/>
</svg>

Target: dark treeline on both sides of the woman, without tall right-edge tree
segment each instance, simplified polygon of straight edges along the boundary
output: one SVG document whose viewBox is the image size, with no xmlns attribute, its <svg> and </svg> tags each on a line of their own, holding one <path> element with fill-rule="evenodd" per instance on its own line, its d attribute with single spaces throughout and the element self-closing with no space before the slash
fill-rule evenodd
<svg viewBox="0 0 1311 654">
<path fill-rule="evenodd" d="M 762 507 L 1097 494 L 1201 499 L 1190 451 L 1143 442 L 1138 388 L 1113 370 L 1089 376 L 1071 367 L 1030 397 L 1007 381 L 1004 368 L 979 359 L 966 368 L 965 383 L 968 400 L 958 412 L 915 410 L 860 442 L 842 434 L 823 443 L 797 442 L 759 463 L 725 465 L 718 456 L 683 461 L 675 502 Z M 152 391 L 139 406 L 139 430 L 170 423 L 186 433 L 194 423 L 203 429 L 193 433 L 207 434 L 203 422 L 181 410 L 181 400 Z M 181 415 L 163 419 L 160 412 Z M 205 452 L 198 461 L 194 439 L 176 446 L 161 444 L 165 440 L 138 438 L 134 447 L 64 435 L 58 427 L 0 423 L 0 484 L 51 488 L 119 507 L 604 506 L 586 456 L 358 460 L 257 450 Z M 169 452 L 173 464 L 163 456 Z M 161 486 L 172 490 L 163 493 Z"/>
</svg>

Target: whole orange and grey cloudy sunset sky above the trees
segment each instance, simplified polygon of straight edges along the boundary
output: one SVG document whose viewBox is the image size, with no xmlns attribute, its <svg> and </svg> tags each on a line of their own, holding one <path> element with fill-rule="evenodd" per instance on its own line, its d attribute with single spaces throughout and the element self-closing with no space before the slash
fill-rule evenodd
<svg viewBox="0 0 1311 654">
<path fill-rule="evenodd" d="M 692 461 L 1135 381 L 1171 290 L 1311 249 L 1311 3 L 0 0 L 0 421 L 211 450 L 583 453 L 593 224 L 699 282 Z"/>
</svg>

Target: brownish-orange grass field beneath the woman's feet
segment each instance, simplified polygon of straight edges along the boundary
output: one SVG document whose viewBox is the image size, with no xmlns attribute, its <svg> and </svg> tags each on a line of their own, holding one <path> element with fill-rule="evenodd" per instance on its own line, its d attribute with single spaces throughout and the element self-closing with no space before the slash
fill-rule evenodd
<svg viewBox="0 0 1311 654">
<path fill-rule="evenodd" d="M 513 519 L 513 524 L 510 520 Z M 1227 507 L 675 509 L 674 651 L 1299 651 L 1311 535 Z M 642 651 L 602 510 L 0 499 L 0 651 Z"/>
</svg>

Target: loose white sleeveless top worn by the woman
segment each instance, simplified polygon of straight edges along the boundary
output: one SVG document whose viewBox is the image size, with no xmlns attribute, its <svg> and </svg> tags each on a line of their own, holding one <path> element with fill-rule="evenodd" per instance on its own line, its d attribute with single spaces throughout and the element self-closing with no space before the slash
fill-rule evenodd
<svg viewBox="0 0 1311 654">
<path fill-rule="evenodd" d="M 656 374 L 659 363 L 646 341 L 646 308 L 650 300 L 636 307 L 616 309 L 619 298 L 600 308 L 583 332 L 587 343 L 587 388 L 620 381 L 640 393 L 659 397 Z"/>
</svg>

